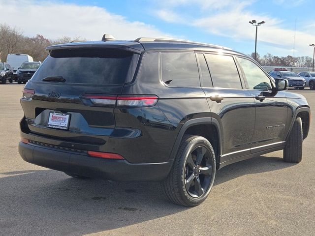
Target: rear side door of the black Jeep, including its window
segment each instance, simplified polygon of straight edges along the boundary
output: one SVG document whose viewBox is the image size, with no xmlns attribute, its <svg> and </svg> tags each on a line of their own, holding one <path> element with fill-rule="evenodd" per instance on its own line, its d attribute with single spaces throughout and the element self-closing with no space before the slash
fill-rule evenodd
<svg viewBox="0 0 315 236">
<path fill-rule="evenodd" d="M 249 154 L 255 102 L 241 81 L 233 56 L 198 53 L 198 59 L 212 117 L 221 123 L 221 163 Z"/>
</svg>

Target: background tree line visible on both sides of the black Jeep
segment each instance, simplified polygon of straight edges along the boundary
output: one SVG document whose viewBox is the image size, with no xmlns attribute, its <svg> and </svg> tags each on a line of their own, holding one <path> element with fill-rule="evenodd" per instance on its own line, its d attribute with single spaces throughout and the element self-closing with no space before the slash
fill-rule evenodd
<svg viewBox="0 0 315 236">
<path fill-rule="evenodd" d="M 32 56 L 34 61 L 43 61 L 48 52 L 45 48 L 49 45 L 69 43 L 73 40 L 82 40 L 80 37 L 71 38 L 69 36 L 62 36 L 58 39 L 48 39 L 41 34 L 33 37 L 24 36 L 23 32 L 19 29 L 12 28 L 6 24 L 0 24 L 0 59 L 6 61 L 9 53 L 21 53 Z M 251 55 L 254 58 L 254 53 Z M 270 53 L 261 57 L 258 53 L 256 61 L 265 66 L 298 66 L 298 67 L 311 67 L 313 59 L 307 56 L 304 57 L 278 57 Z"/>
</svg>

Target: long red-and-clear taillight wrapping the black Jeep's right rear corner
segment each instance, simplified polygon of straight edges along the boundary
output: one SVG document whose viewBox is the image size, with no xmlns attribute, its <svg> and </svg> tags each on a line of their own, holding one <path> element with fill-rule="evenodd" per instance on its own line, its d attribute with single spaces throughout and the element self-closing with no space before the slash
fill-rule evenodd
<svg viewBox="0 0 315 236">
<path fill-rule="evenodd" d="M 95 105 L 103 106 L 118 106 L 118 107 L 149 107 L 155 106 L 158 102 L 156 95 L 96 95 L 85 94 L 82 96 L 85 99 L 90 99 Z"/>
</svg>

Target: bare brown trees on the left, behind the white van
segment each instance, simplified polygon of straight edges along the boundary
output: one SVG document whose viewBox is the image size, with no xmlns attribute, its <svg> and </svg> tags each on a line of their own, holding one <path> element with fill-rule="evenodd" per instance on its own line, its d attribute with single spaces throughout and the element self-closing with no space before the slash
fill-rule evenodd
<svg viewBox="0 0 315 236">
<path fill-rule="evenodd" d="M 17 28 L 0 24 L 0 59 L 3 62 L 6 61 L 9 53 L 20 53 L 30 55 L 34 61 L 43 61 L 48 56 L 48 52 L 45 51 L 46 47 L 80 39 L 80 37 L 62 36 L 52 40 L 41 34 L 28 37 L 24 36 L 23 32 Z"/>
</svg>

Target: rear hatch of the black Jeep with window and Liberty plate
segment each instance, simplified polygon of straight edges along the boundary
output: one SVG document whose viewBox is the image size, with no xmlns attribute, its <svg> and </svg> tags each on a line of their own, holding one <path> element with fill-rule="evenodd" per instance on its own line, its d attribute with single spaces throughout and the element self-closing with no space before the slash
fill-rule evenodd
<svg viewBox="0 0 315 236">
<path fill-rule="evenodd" d="M 120 49 L 52 50 L 25 86 L 22 132 L 39 141 L 42 137 L 44 143 L 104 145 L 114 131 L 114 106 L 85 97 L 121 94 L 138 59 L 138 54 Z"/>
</svg>

